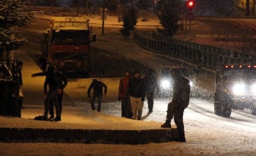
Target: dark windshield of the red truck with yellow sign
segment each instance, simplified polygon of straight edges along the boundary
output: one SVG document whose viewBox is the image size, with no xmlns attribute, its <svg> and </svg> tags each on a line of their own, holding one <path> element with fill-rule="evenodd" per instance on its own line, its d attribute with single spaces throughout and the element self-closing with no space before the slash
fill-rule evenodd
<svg viewBox="0 0 256 156">
<path fill-rule="evenodd" d="M 89 30 L 53 31 L 52 39 L 56 45 L 86 45 L 89 44 Z"/>
</svg>

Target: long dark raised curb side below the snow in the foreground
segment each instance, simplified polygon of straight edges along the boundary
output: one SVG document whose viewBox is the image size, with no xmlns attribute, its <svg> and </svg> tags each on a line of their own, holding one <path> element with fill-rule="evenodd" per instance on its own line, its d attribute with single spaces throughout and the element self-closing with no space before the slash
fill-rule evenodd
<svg viewBox="0 0 256 156">
<path fill-rule="evenodd" d="M 177 129 L 96 130 L 0 128 L 0 142 L 148 144 L 178 140 Z"/>
</svg>

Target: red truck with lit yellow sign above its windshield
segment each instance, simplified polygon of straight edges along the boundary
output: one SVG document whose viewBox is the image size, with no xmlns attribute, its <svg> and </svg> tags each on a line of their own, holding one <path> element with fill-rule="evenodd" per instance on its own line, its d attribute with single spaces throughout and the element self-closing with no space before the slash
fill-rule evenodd
<svg viewBox="0 0 256 156">
<path fill-rule="evenodd" d="M 41 38 L 41 52 L 58 70 L 89 76 L 90 43 L 96 41 L 90 34 L 87 16 L 52 17 Z"/>
</svg>

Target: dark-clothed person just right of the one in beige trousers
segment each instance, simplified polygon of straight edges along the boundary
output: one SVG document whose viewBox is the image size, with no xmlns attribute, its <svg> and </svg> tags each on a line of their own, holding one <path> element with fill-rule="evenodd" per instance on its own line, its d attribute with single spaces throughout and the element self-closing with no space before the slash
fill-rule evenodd
<svg viewBox="0 0 256 156">
<path fill-rule="evenodd" d="M 156 77 L 153 74 L 152 69 L 149 69 L 148 74 L 144 77 L 144 81 L 146 85 L 146 96 L 148 99 L 148 113 L 152 113 L 156 89 Z"/>
</svg>

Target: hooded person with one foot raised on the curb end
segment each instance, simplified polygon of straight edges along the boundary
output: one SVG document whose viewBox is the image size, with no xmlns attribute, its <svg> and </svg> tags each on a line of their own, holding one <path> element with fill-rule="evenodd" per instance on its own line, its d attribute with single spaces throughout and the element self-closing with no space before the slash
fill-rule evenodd
<svg viewBox="0 0 256 156">
<path fill-rule="evenodd" d="M 190 99 L 190 81 L 180 73 L 177 67 L 171 68 L 170 75 L 174 80 L 172 101 L 168 104 L 166 121 L 161 127 L 171 128 L 171 120 L 174 117 L 180 137 L 179 141 L 186 142 L 183 113 Z"/>
</svg>

